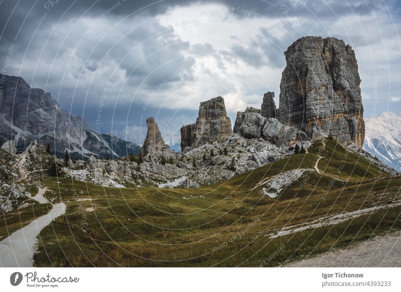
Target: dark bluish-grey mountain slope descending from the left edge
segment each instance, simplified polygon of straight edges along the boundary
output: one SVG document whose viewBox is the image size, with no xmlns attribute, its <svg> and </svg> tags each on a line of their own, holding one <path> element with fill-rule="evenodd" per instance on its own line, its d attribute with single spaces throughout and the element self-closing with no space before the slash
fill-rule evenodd
<svg viewBox="0 0 401 292">
<path fill-rule="evenodd" d="M 87 158 L 91 154 L 121 157 L 139 153 L 139 146 L 118 137 L 98 133 L 80 116 L 61 108 L 50 92 L 31 88 L 23 78 L 0 74 L 0 143 L 13 140 L 23 152 L 36 140 L 51 144 L 53 152 L 63 157 Z"/>
</svg>

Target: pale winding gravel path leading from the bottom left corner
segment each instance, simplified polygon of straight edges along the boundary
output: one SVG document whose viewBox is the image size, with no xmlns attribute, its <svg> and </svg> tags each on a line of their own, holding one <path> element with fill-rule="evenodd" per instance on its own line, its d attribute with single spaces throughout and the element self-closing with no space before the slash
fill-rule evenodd
<svg viewBox="0 0 401 292">
<path fill-rule="evenodd" d="M 43 197 L 46 189 L 39 189 L 38 194 L 32 199 L 37 200 L 40 204 L 48 203 Z M 47 225 L 64 214 L 66 205 L 58 203 L 46 215 L 43 215 L 22 229 L 14 232 L 6 239 L 0 241 L 0 266 L 2 267 L 33 267 L 34 253 L 38 243 L 37 236 Z"/>
</svg>

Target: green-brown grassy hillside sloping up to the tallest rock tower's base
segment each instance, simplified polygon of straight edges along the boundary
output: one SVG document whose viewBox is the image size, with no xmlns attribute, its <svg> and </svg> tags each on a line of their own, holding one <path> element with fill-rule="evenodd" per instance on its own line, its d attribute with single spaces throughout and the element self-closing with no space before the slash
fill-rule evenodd
<svg viewBox="0 0 401 292">
<path fill-rule="evenodd" d="M 38 266 L 277 266 L 401 228 L 400 178 L 333 138 L 199 189 L 45 185 L 67 211 Z"/>
</svg>

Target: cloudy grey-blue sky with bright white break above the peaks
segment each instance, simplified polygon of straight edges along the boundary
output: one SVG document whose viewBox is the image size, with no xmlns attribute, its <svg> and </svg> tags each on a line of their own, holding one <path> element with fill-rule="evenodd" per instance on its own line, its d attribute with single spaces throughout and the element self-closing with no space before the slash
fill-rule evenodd
<svg viewBox="0 0 401 292">
<path fill-rule="evenodd" d="M 0 23 L 3 72 L 92 126 L 101 109 L 103 132 L 151 115 L 194 120 L 218 95 L 231 115 L 267 91 L 278 105 L 283 52 L 307 35 L 355 50 L 366 117 L 401 110 L 398 0 L 3 0 Z"/>
</svg>

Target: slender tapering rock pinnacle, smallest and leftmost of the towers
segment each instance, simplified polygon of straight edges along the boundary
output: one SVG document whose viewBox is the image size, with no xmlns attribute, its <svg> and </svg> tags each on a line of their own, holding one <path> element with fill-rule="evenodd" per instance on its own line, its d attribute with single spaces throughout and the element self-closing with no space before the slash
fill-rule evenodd
<svg viewBox="0 0 401 292">
<path fill-rule="evenodd" d="M 164 143 L 163 137 L 159 131 L 159 127 L 153 117 L 146 119 L 147 133 L 141 147 L 143 157 L 149 155 L 153 157 L 158 151 L 169 151 L 170 147 Z"/>
</svg>

